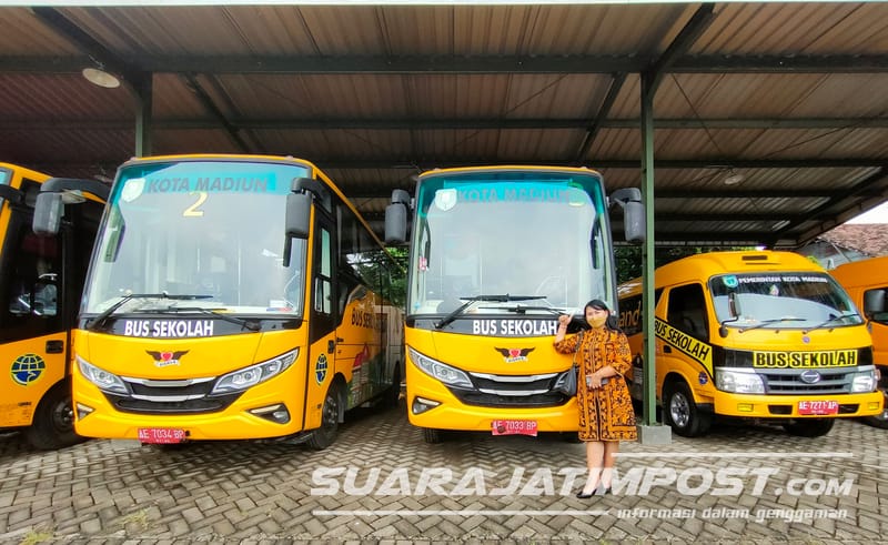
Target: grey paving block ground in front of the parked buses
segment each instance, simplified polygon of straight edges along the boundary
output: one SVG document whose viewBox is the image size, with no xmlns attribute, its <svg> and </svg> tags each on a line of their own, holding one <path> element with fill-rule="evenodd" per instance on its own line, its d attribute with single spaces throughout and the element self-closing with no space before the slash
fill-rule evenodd
<svg viewBox="0 0 888 545">
<path fill-rule="evenodd" d="M 350 414 L 325 451 L 0 435 L 0 543 L 878 543 L 888 431 L 824 437 L 718 425 L 624 443 L 614 494 L 578 499 L 584 445 L 454 433 L 426 444 L 403 405 Z"/>
</svg>

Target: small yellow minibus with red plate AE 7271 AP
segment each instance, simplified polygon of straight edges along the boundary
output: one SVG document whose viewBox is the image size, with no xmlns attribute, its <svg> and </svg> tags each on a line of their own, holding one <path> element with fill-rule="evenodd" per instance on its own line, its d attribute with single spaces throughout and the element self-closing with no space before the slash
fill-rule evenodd
<svg viewBox="0 0 888 545">
<path fill-rule="evenodd" d="M 678 435 L 714 416 L 819 436 L 835 418 L 881 412 L 861 316 L 825 270 L 793 252 L 712 252 L 655 272 L 656 393 Z M 620 325 L 642 397 L 642 282 L 619 286 Z"/>
</svg>

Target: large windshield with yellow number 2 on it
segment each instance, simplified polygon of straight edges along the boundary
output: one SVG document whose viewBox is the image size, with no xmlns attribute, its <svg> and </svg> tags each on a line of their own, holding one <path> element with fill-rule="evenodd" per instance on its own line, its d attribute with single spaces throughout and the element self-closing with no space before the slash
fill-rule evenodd
<svg viewBox="0 0 888 545">
<path fill-rule="evenodd" d="M 301 314 L 305 241 L 290 241 L 284 266 L 284 215 L 291 180 L 310 174 L 299 164 L 255 161 L 124 165 L 82 312 L 102 313 L 128 297 L 114 312 Z"/>
</svg>

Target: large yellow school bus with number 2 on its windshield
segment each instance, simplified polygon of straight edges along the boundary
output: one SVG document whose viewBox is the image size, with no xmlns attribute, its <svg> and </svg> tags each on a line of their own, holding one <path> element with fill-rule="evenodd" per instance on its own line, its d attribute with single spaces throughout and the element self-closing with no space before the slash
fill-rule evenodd
<svg viewBox="0 0 888 545">
<path fill-rule="evenodd" d="M 41 199 L 57 206 L 57 195 Z M 111 190 L 74 331 L 77 432 L 324 448 L 346 410 L 400 393 L 395 273 L 307 161 L 131 160 Z"/>
</svg>

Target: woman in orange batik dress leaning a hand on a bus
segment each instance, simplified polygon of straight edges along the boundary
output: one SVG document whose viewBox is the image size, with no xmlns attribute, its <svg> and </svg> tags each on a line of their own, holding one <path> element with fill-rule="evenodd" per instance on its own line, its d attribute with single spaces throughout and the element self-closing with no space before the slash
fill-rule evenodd
<svg viewBox="0 0 888 545">
<path fill-rule="evenodd" d="M 576 353 L 579 366 L 576 401 L 579 406 L 579 438 L 586 443 L 586 485 L 576 495 L 592 497 L 610 491 L 615 455 L 620 441 L 638 437 L 632 397 L 623 375 L 632 369 L 626 335 L 610 323 L 610 311 L 599 300 L 584 309 L 588 331 L 565 339 L 571 316 L 558 316 L 555 350 Z"/>
</svg>

